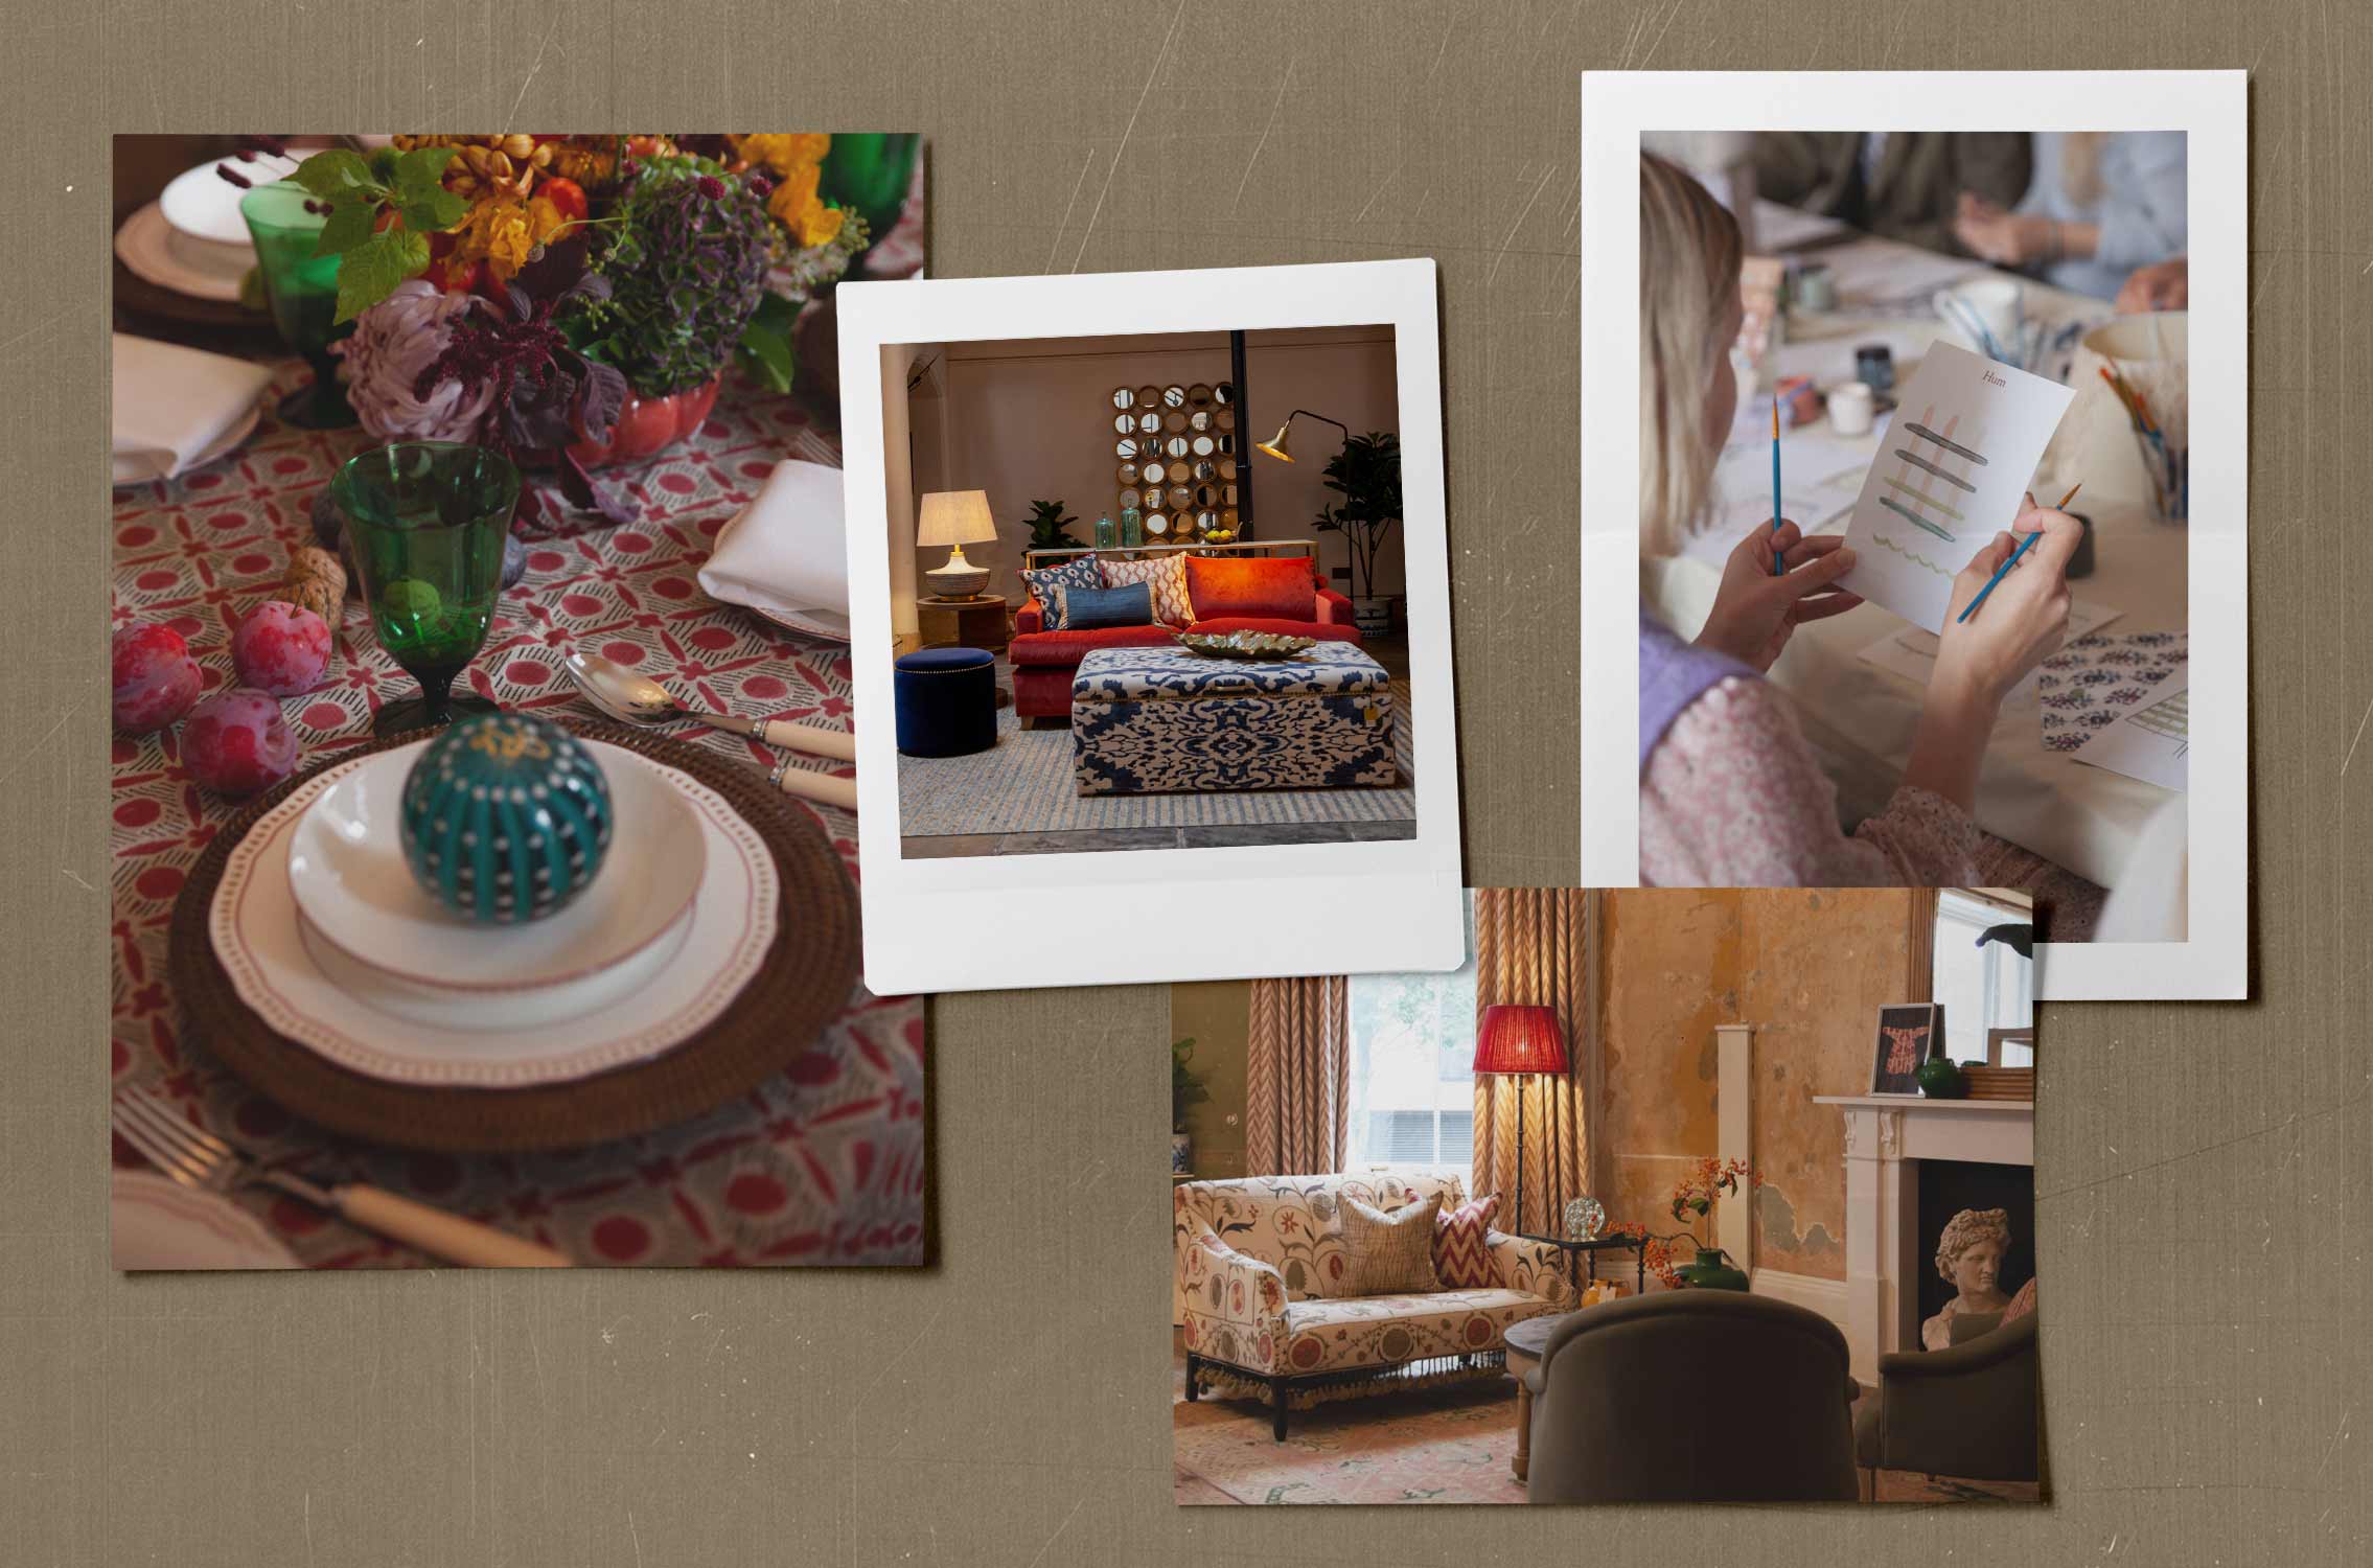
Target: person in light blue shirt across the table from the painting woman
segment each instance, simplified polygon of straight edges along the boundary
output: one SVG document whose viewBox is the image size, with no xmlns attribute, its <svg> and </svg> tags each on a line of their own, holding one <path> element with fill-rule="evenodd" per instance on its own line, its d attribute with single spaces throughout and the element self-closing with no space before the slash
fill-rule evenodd
<svg viewBox="0 0 2373 1568">
<path fill-rule="evenodd" d="M 1962 192 L 1953 237 L 1996 266 L 2117 299 L 2131 278 L 2183 254 L 2183 159 L 2181 130 L 2038 130 L 2019 204 Z"/>
</svg>

